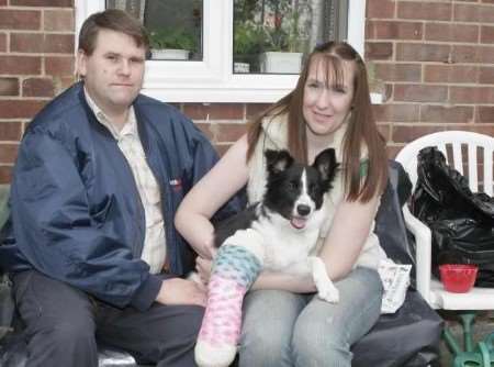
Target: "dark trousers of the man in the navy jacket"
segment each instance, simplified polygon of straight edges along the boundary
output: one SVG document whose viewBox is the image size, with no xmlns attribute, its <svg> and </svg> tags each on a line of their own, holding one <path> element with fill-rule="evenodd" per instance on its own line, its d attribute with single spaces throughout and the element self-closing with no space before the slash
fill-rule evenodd
<svg viewBox="0 0 494 367">
<path fill-rule="evenodd" d="M 98 366 L 97 340 L 131 353 L 141 364 L 191 367 L 204 309 L 154 303 L 139 312 L 99 302 L 38 271 L 12 277 L 26 324 L 26 367 Z"/>
</svg>

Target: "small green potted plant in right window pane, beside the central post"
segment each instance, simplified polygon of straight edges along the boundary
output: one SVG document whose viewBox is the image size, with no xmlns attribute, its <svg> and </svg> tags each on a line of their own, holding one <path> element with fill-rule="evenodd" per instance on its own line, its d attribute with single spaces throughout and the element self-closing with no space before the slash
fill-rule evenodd
<svg viewBox="0 0 494 367">
<path fill-rule="evenodd" d="M 251 66 L 258 64 L 258 55 L 262 51 L 265 33 L 254 21 L 235 22 L 234 24 L 234 71 L 250 73 Z"/>
</svg>

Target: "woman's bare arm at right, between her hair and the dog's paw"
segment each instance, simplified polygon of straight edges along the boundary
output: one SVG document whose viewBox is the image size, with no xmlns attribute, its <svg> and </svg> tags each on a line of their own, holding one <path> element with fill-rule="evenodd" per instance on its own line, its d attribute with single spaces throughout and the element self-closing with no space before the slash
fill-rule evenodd
<svg viewBox="0 0 494 367">
<path fill-rule="evenodd" d="M 355 266 L 375 219 L 380 197 L 366 203 L 341 201 L 337 204 L 329 233 L 321 251 L 321 258 L 332 280 L 344 278 Z"/>
</svg>

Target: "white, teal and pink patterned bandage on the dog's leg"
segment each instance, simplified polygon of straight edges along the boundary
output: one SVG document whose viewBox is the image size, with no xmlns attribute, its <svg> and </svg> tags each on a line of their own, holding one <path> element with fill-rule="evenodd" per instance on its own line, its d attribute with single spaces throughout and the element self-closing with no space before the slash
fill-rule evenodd
<svg viewBox="0 0 494 367">
<path fill-rule="evenodd" d="M 244 294 L 262 265 L 261 240 L 252 230 L 237 231 L 214 258 L 206 310 L 195 344 L 195 363 L 200 367 L 226 367 L 235 358 Z"/>
</svg>

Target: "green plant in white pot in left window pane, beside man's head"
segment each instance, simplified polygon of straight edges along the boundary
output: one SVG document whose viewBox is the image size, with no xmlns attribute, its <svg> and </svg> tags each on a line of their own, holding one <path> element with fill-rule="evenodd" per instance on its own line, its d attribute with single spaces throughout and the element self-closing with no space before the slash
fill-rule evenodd
<svg viewBox="0 0 494 367">
<path fill-rule="evenodd" d="M 195 37 L 183 27 L 157 29 L 149 32 L 153 59 L 189 59 L 197 48 Z"/>
</svg>

